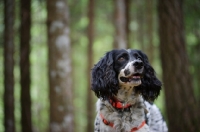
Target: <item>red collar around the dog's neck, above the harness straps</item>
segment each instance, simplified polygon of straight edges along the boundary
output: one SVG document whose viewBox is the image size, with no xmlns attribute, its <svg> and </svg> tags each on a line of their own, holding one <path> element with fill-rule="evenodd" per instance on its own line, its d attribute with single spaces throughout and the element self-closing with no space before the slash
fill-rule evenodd
<svg viewBox="0 0 200 132">
<path fill-rule="evenodd" d="M 112 98 L 109 100 L 109 102 L 113 107 L 118 109 L 125 109 L 131 106 L 131 104 L 125 105 L 124 103 L 120 102 L 117 98 Z"/>
</svg>

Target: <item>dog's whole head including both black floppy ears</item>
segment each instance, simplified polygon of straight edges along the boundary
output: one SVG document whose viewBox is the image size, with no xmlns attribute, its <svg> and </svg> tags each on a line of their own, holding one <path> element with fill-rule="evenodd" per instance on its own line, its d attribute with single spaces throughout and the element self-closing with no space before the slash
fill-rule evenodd
<svg viewBox="0 0 200 132">
<path fill-rule="evenodd" d="M 92 69 L 92 90 L 103 99 L 116 95 L 123 86 L 134 87 L 145 100 L 154 101 L 161 85 L 147 56 L 140 50 L 112 50 Z"/>
</svg>

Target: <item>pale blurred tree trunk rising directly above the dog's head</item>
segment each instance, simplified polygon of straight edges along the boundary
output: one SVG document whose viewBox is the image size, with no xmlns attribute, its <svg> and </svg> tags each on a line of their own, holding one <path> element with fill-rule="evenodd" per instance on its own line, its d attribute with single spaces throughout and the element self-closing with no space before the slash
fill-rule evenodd
<svg viewBox="0 0 200 132">
<path fill-rule="evenodd" d="M 126 6 L 124 0 L 114 0 L 115 3 L 115 37 L 114 48 L 127 48 L 127 32 L 126 32 Z"/>
</svg>

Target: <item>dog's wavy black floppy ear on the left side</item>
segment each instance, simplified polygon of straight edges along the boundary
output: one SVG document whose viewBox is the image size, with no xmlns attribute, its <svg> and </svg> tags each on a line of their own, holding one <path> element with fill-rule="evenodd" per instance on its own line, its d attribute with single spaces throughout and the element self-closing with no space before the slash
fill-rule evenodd
<svg viewBox="0 0 200 132">
<path fill-rule="evenodd" d="M 118 91 L 117 75 L 113 69 L 113 52 L 107 52 L 92 69 L 92 90 L 98 98 L 111 97 Z"/>
</svg>

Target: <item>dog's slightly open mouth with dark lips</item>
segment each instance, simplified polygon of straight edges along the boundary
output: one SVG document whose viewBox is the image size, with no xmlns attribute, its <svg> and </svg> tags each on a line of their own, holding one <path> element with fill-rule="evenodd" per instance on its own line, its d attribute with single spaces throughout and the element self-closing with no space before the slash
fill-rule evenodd
<svg viewBox="0 0 200 132">
<path fill-rule="evenodd" d="M 137 82 L 137 81 L 140 81 L 142 78 L 142 74 L 140 73 L 135 73 L 135 74 L 132 74 L 131 76 L 128 76 L 128 77 L 120 77 L 119 79 L 124 82 L 124 83 L 131 83 L 131 82 Z"/>
</svg>

